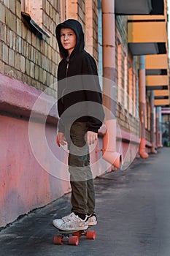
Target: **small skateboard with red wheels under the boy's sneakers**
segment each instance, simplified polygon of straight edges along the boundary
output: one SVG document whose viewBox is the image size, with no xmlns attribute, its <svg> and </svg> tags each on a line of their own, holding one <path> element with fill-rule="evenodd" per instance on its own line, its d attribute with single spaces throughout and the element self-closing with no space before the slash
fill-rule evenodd
<svg viewBox="0 0 170 256">
<path fill-rule="evenodd" d="M 57 228 L 57 227 L 56 227 Z M 89 227 L 88 227 L 89 228 Z M 95 239 L 96 232 L 94 230 L 59 230 L 60 236 L 54 236 L 54 244 L 63 244 L 64 241 L 69 241 L 70 245 L 78 245 L 81 236 L 86 236 L 87 239 Z"/>
</svg>

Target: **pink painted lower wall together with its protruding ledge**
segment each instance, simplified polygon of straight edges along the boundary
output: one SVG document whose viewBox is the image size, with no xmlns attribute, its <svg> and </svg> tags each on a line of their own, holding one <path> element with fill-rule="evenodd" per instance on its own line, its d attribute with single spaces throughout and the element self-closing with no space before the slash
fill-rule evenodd
<svg viewBox="0 0 170 256">
<path fill-rule="evenodd" d="M 0 227 L 70 191 L 68 152 L 55 143 L 56 99 L 47 95 L 39 99 L 40 94 L 0 74 Z M 39 104 L 35 108 L 37 99 Z M 40 119 L 34 120 L 32 113 Z M 98 151 L 103 147 L 102 133 L 101 129 L 96 146 L 90 147 L 94 178 L 113 168 Z M 122 131 L 121 137 L 128 140 L 130 135 Z M 117 142 L 117 151 L 130 163 L 138 149 L 136 138 L 133 140 L 135 143 L 130 147 L 128 143 Z"/>
</svg>

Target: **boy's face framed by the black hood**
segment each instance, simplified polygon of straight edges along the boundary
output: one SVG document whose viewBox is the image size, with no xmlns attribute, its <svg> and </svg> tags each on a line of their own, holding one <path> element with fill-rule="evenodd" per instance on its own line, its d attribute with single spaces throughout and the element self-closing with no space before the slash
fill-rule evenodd
<svg viewBox="0 0 170 256">
<path fill-rule="evenodd" d="M 63 48 L 68 50 L 69 55 L 72 53 L 76 46 L 76 34 L 72 29 L 63 28 L 61 29 L 61 44 Z"/>
</svg>

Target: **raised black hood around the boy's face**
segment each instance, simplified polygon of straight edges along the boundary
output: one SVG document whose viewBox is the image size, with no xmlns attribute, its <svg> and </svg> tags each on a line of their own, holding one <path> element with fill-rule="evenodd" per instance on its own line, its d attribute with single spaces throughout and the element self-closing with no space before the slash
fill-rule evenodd
<svg viewBox="0 0 170 256">
<path fill-rule="evenodd" d="M 77 37 L 77 43 L 72 51 L 71 58 L 75 56 L 76 53 L 81 52 L 85 47 L 85 39 L 84 39 L 84 33 L 82 31 L 82 25 L 79 21 L 74 19 L 65 20 L 63 23 L 58 24 L 58 26 L 55 29 L 57 41 L 58 41 L 58 47 L 61 52 L 61 55 L 63 59 L 66 59 L 68 56 L 68 51 L 63 48 L 61 45 L 61 28 L 69 28 L 74 30 L 76 37 Z"/>
</svg>

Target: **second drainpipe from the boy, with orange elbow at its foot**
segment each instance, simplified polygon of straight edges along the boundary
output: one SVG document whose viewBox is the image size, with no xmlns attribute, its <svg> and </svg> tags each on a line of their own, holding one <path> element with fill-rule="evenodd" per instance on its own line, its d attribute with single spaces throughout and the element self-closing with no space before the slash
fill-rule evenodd
<svg viewBox="0 0 170 256">
<path fill-rule="evenodd" d="M 140 56 L 139 61 L 139 116 L 141 121 L 141 142 L 139 144 L 139 155 L 147 158 L 145 151 L 145 105 L 146 105 L 146 73 L 145 73 L 145 57 Z"/>
</svg>

